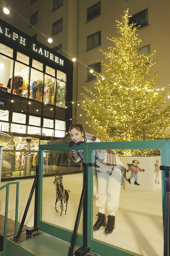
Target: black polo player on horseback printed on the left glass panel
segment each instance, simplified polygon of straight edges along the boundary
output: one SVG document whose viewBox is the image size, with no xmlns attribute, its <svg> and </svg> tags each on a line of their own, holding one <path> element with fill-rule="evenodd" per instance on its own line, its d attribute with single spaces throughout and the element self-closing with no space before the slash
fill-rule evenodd
<svg viewBox="0 0 170 256">
<path fill-rule="evenodd" d="M 65 190 L 64 189 L 64 186 L 63 186 L 63 176 L 62 175 L 58 175 L 58 176 L 55 176 L 55 179 L 53 181 L 53 184 L 55 185 L 55 190 L 56 190 L 56 201 L 55 201 L 55 210 L 56 212 L 58 213 L 57 209 L 56 209 L 56 203 L 58 201 L 61 202 L 60 204 L 60 208 L 61 208 L 61 214 L 64 210 L 64 207 L 63 207 L 63 201 L 64 203 L 66 202 L 66 210 L 65 210 L 65 215 L 66 215 L 66 211 L 67 211 L 67 203 L 68 203 L 68 200 L 69 200 L 69 193 L 70 190 Z M 61 216 L 60 214 L 60 216 Z"/>
</svg>

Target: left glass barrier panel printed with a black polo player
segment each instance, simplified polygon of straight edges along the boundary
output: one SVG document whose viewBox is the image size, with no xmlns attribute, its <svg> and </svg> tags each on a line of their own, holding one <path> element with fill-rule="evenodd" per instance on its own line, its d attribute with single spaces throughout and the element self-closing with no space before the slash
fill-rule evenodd
<svg viewBox="0 0 170 256">
<path fill-rule="evenodd" d="M 43 151 L 42 221 L 73 231 L 82 187 L 83 166 L 72 161 L 70 150 Z"/>
</svg>

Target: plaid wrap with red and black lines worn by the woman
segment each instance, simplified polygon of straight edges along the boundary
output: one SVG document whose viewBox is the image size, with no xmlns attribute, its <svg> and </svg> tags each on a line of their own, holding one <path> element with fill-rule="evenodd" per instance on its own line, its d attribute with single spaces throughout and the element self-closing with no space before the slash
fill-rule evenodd
<svg viewBox="0 0 170 256">
<path fill-rule="evenodd" d="M 86 143 L 89 142 L 96 142 L 97 137 L 85 132 L 86 136 Z M 83 153 L 81 150 L 70 150 L 71 158 L 73 162 L 78 163 L 80 160 L 83 161 Z M 103 159 L 99 157 L 99 155 L 103 155 Z M 106 171 L 107 174 L 112 175 L 113 169 L 115 166 L 121 166 L 121 173 L 122 173 L 122 181 L 121 185 L 123 185 L 123 189 L 125 188 L 125 182 L 127 180 L 126 177 L 126 169 L 124 165 L 122 164 L 122 161 L 120 160 L 119 156 L 111 149 L 98 149 L 95 150 L 95 160 L 99 161 L 101 164 L 104 164 L 106 166 L 112 166 L 111 170 Z M 99 170 L 97 170 L 100 172 Z"/>
</svg>

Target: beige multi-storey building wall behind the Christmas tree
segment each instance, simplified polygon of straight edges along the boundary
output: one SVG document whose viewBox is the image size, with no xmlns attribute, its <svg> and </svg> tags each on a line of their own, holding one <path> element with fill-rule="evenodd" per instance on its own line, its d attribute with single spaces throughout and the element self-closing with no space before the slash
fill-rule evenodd
<svg viewBox="0 0 170 256">
<path fill-rule="evenodd" d="M 155 59 L 157 63 L 153 72 L 160 71 L 156 81 L 157 88 L 169 86 L 169 8 L 170 2 L 149 0 L 18 0 L 17 3 L 9 0 L 8 4 L 22 17 L 28 20 L 35 28 L 65 49 L 85 65 L 102 72 L 98 59 L 104 58 L 99 49 L 107 49 L 111 42 L 107 37 L 117 34 L 116 20 L 129 8 L 131 21 L 141 25 L 139 37 L 142 39 L 141 51 L 144 54 L 150 50 L 157 50 Z M 162 7 L 163 6 L 163 7 Z M 36 36 L 51 49 L 59 51 L 63 56 L 72 59 L 70 55 L 61 52 L 56 44 L 49 44 L 47 38 L 37 32 L 33 27 L 13 15 L 2 12 L 4 4 L 1 3 L 0 14 L 2 19 L 12 24 L 30 36 Z M 90 75 L 89 69 L 80 62 L 73 64 L 73 112 L 72 121 L 85 124 L 89 130 L 88 118 L 78 104 L 81 105 L 84 92 L 83 86 L 94 84 L 95 77 Z M 166 90 L 168 87 L 166 87 Z M 87 124 L 86 124 L 87 122 Z"/>
</svg>

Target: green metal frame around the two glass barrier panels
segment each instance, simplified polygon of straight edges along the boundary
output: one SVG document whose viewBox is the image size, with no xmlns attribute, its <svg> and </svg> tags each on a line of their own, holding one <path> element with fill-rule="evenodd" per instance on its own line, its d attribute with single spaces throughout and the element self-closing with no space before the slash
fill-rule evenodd
<svg viewBox="0 0 170 256">
<path fill-rule="evenodd" d="M 170 140 L 147 140 L 147 141 L 132 141 L 132 142 L 98 142 L 98 143 L 82 143 L 78 147 L 73 145 L 72 148 L 68 144 L 53 144 L 53 145 L 40 145 L 39 146 L 39 159 L 38 163 L 40 165 L 40 175 L 39 175 L 39 192 L 38 192 L 38 216 L 37 225 L 39 230 L 55 236 L 61 240 L 68 243 L 71 242 L 72 232 L 70 230 L 61 228 L 59 226 L 52 225 L 41 219 L 41 209 L 42 209 L 42 164 L 43 164 L 43 150 L 83 150 L 83 162 L 93 163 L 93 150 L 96 149 L 160 149 L 161 152 L 161 165 L 170 166 Z M 169 158 L 168 158 L 169 156 Z M 133 252 L 129 252 L 122 248 L 117 248 L 114 245 L 109 245 L 104 242 L 93 239 L 93 167 L 89 166 L 89 171 L 86 173 L 88 179 L 88 190 L 87 190 L 87 218 L 85 220 L 86 213 L 83 214 L 83 236 L 77 234 L 76 240 L 74 238 L 75 244 L 81 247 L 83 244 L 90 247 L 90 251 L 98 254 L 116 256 L 127 256 L 127 255 L 137 255 Z M 162 208 L 163 208 L 163 225 L 165 226 L 165 198 L 166 198 L 166 184 L 165 184 L 165 172 L 161 171 L 162 174 Z M 85 173 L 84 173 L 85 175 Z M 84 237 L 87 234 L 87 244 L 84 242 Z M 168 240 L 169 241 L 169 240 Z M 72 243 L 73 244 L 73 243 Z M 166 256 L 166 254 L 165 254 Z"/>
</svg>

